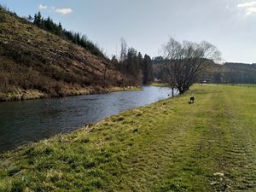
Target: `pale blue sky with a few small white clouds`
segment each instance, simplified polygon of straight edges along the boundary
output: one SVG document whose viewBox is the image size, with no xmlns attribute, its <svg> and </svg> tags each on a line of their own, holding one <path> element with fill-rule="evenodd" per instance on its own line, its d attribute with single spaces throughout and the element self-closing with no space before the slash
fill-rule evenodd
<svg viewBox="0 0 256 192">
<path fill-rule="evenodd" d="M 41 11 L 81 32 L 111 57 L 120 38 L 159 56 L 169 38 L 208 41 L 223 61 L 256 63 L 256 1 L 252 0 L 0 0 L 20 16 Z"/>
</svg>

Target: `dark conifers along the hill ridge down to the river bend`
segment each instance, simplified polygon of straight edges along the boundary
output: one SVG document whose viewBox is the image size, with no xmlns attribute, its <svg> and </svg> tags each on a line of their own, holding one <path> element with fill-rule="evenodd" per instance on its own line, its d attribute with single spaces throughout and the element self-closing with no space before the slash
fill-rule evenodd
<svg viewBox="0 0 256 192">
<path fill-rule="evenodd" d="M 102 53 L 96 44 L 93 44 L 90 40 L 86 38 L 85 35 L 79 34 L 79 32 L 70 32 L 61 26 L 61 23 L 56 24 L 49 17 L 44 19 L 41 13 L 35 14 L 32 18 L 31 15 L 28 16 L 27 20 L 32 21 L 35 26 L 38 26 L 48 32 L 52 32 L 62 38 L 67 38 L 74 44 L 79 44 L 92 53 L 93 55 L 100 56 L 109 60 L 106 55 Z M 125 76 L 130 78 L 130 84 L 149 84 L 153 81 L 153 69 L 152 61 L 149 55 L 142 55 L 137 52 L 134 48 L 128 48 L 125 39 L 121 39 L 121 50 L 119 57 L 113 55 L 111 60 L 113 66 L 116 70 L 119 70 Z"/>
</svg>

